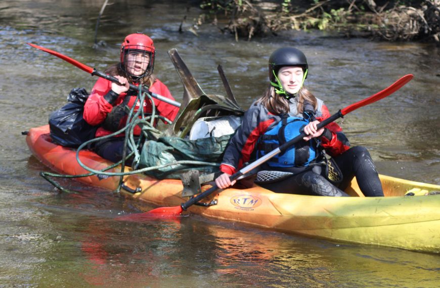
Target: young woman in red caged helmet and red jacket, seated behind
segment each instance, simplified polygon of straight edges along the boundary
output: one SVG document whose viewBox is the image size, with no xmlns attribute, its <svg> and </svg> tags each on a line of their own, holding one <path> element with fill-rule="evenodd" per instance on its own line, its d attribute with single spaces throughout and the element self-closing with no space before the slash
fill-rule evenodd
<svg viewBox="0 0 440 288">
<path fill-rule="evenodd" d="M 145 34 L 135 33 L 125 37 L 121 45 L 120 62 L 110 66 L 105 72 L 114 76 L 122 85 L 118 85 L 104 78 L 99 78 L 92 89 L 92 93 L 84 105 L 84 120 L 91 125 L 100 125 L 95 137 L 111 134 L 126 124 L 127 114 L 124 107 L 135 111 L 140 109 L 139 101 L 136 102 L 138 91 L 129 90 L 129 83 L 148 87 L 150 92 L 174 100 L 168 88 L 153 74 L 155 48 L 153 40 Z M 156 113 L 173 121 L 179 112 L 165 102 L 153 99 Z M 152 103 L 145 98 L 143 104 L 144 116 L 151 115 Z M 157 121 L 156 121 L 157 123 Z M 139 135 L 141 129 L 136 126 L 134 135 Z M 100 140 L 93 149 L 101 157 L 118 162 L 122 159 L 124 134 Z M 130 151 L 128 151 L 129 153 Z"/>
</svg>

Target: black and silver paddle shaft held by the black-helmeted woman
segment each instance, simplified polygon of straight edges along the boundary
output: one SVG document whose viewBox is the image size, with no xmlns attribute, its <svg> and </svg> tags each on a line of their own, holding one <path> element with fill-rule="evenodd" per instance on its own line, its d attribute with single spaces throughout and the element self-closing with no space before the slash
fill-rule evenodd
<svg viewBox="0 0 440 288">
<path fill-rule="evenodd" d="M 317 128 L 321 129 L 324 126 L 330 124 L 331 122 L 333 122 L 336 119 L 341 118 L 343 116 L 344 115 L 342 114 L 341 110 L 339 110 L 338 112 L 336 112 L 335 114 L 333 114 L 329 118 L 327 118 L 327 119 L 323 120 L 322 122 L 320 122 L 317 125 Z M 275 155 L 278 155 L 281 152 L 285 152 L 289 147 L 294 145 L 296 142 L 300 141 L 305 136 L 306 136 L 305 133 L 301 132 L 298 136 L 296 136 L 293 139 L 290 139 L 289 141 L 287 141 L 286 143 L 281 145 L 279 148 L 277 148 L 274 151 L 272 151 L 272 152 L 266 154 L 265 156 L 259 158 L 255 162 L 252 162 L 251 164 L 247 165 L 246 167 L 243 167 L 241 170 L 235 172 L 233 175 L 229 176 L 229 179 L 231 181 L 234 181 L 234 180 L 238 179 L 239 177 L 241 177 L 242 175 L 246 174 L 247 172 L 249 172 L 249 171 L 253 170 L 254 168 L 260 166 L 261 164 L 265 163 L 266 161 L 268 161 L 269 159 L 271 159 Z M 194 205 L 195 203 L 199 202 L 203 198 L 208 197 L 209 195 L 211 195 L 212 193 L 214 193 L 217 190 L 218 190 L 218 187 L 217 187 L 216 184 L 214 184 L 211 188 L 207 189 L 203 193 L 197 195 L 194 198 L 191 198 L 190 200 L 188 200 L 185 203 L 182 203 L 181 204 L 182 209 L 186 211 L 188 209 L 188 207 Z"/>
</svg>

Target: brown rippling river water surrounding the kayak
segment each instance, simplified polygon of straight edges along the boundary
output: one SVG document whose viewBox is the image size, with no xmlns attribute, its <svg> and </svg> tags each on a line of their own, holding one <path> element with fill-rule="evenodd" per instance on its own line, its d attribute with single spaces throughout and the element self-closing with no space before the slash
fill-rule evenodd
<svg viewBox="0 0 440 288">
<path fill-rule="evenodd" d="M 353 145 L 370 150 L 380 173 L 440 184 L 440 50 L 431 44 L 344 39 L 281 32 L 236 42 L 212 25 L 193 26 L 191 2 L 3 0 L 0 3 L 0 286 L 289 286 L 434 287 L 440 257 L 288 235 L 194 215 L 121 222 L 139 212 L 109 191 L 62 181 L 79 194 L 60 194 L 39 171 L 21 131 L 46 124 L 73 87 L 96 77 L 35 50 L 36 43 L 104 70 L 120 42 L 136 31 L 152 36 L 155 73 L 177 101 L 183 87 L 167 51 L 178 49 L 206 93 L 223 94 L 221 64 L 240 105 L 267 85 L 267 59 L 296 46 L 309 60 L 305 85 L 336 112 L 387 87 L 414 79 L 342 124 Z M 186 16 L 183 32 L 179 26 Z"/>
</svg>

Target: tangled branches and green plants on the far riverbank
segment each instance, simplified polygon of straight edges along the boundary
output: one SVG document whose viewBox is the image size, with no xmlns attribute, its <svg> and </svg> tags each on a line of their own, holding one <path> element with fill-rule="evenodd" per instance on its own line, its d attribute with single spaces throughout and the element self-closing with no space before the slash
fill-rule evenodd
<svg viewBox="0 0 440 288">
<path fill-rule="evenodd" d="M 338 31 L 350 37 L 440 43 L 439 0 L 202 0 L 199 24 L 217 17 L 236 39 L 281 30 Z M 203 21 L 201 21 L 203 19 Z"/>
</svg>

